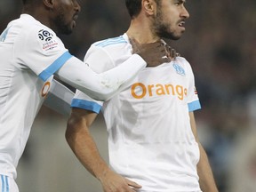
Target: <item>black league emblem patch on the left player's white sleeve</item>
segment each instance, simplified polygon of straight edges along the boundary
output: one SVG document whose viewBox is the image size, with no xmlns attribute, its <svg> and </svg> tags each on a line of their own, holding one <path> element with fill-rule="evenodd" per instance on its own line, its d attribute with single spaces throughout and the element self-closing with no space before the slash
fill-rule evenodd
<svg viewBox="0 0 256 192">
<path fill-rule="evenodd" d="M 40 30 L 38 32 L 38 37 L 42 42 L 42 48 L 44 51 L 52 50 L 58 46 L 58 42 L 55 40 L 55 38 L 53 38 L 52 33 L 47 30 Z"/>
</svg>

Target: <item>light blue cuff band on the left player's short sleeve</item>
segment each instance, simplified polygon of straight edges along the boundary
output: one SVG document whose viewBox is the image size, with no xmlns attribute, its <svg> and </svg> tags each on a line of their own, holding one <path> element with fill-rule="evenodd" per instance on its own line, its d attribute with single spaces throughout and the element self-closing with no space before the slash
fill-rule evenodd
<svg viewBox="0 0 256 192">
<path fill-rule="evenodd" d="M 72 55 L 69 52 L 64 52 L 57 60 L 55 60 L 52 65 L 44 69 L 39 74 L 39 77 L 45 82 L 50 76 L 52 76 L 58 69 L 60 69 L 64 63 L 69 60 Z"/>
</svg>

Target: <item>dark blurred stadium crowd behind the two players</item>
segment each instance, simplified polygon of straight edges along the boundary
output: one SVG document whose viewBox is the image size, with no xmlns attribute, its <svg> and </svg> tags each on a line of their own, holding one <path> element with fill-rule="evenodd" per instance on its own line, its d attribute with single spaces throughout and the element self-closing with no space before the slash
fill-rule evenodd
<svg viewBox="0 0 256 192">
<path fill-rule="evenodd" d="M 122 0 L 80 4 L 74 33 L 60 37 L 83 60 L 90 44 L 123 34 L 130 19 Z M 220 192 L 255 191 L 256 1 L 188 0 L 187 8 L 186 33 L 169 43 L 194 68 L 199 137 Z M 1 0 L 0 31 L 20 12 L 21 0 Z"/>
</svg>

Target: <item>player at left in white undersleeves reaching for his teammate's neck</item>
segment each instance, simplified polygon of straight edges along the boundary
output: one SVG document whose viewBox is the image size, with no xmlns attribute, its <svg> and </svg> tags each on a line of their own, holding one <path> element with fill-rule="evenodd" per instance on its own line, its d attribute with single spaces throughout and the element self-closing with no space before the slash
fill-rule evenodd
<svg viewBox="0 0 256 192">
<path fill-rule="evenodd" d="M 51 89 L 53 75 L 94 99 L 107 100 L 145 68 L 146 61 L 154 64 L 169 60 L 162 59 L 166 55 L 163 44 L 143 44 L 140 55 L 124 56 L 120 66 L 97 74 L 72 56 L 56 36 L 68 35 L 75 28 L 80 12 L 76 0 L 23 0 L 23 4 L 20 19 L 12 20 L 0 36 L 0 190 L 3 192 L 19 191 L 15 183 L 16 167 L 36 113 Z"/>
</svg>

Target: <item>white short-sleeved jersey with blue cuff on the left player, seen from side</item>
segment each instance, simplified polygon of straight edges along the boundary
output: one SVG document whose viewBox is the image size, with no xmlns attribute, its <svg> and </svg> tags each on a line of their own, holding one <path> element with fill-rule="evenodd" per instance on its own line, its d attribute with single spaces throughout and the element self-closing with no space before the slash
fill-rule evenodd
<svg viewBox="0 0 256 192">
<path fill-rule="evenodd" d="M 28 14 L 0 36 L 0 56 L 0 174 L 15 179 L 52 74 L 72 56 L 52 29 Z"/>
</svg>

